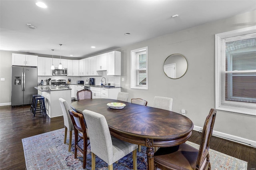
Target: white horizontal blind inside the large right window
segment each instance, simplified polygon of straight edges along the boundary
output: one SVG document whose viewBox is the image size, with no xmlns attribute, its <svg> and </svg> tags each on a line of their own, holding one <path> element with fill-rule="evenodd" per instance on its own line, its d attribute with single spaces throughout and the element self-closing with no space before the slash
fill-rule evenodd
<svg viewBox="0 0 256 170">
<path fill-rule="evenodd" d="M 256 109 L 256 34 L 221 40 L 221 105 Z"/>
</svg>

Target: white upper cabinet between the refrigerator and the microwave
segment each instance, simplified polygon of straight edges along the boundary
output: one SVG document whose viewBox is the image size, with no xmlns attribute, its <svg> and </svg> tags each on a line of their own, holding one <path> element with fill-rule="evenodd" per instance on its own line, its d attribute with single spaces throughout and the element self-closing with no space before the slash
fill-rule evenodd
<svg viewBox="0 0 256 170">
<path fill-rule="evenodd" d="M 52 76 L 52 58 L 38 57 L 37 75 Z"/>
</svg>

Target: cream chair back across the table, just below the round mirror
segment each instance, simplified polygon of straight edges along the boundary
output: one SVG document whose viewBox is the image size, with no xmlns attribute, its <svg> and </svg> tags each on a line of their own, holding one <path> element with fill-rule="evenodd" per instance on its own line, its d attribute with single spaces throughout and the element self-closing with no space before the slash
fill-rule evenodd
<svg viewBox="0 0 256 170">
<path fill-rule="evenodd" d="M 172 111 L 172 98 L 155 96 L 153 107 Z"/>
</svg>

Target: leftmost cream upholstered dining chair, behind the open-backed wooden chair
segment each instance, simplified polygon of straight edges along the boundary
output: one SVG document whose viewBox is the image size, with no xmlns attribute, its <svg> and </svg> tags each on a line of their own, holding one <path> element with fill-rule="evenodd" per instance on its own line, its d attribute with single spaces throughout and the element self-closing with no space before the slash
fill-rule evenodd
<svg viewBox="0 0 256 170">
<path fill-rule="evenodd" d="M 72 142 L 72 130 L 74 130 L 72 120 L 70 118 L 70 115 L 68 113 L 68 110 L 70 109 L 70 106 L 68 105 L 68 102 L 62 98 L 59 98 L 60 101 L 60 107 L 62 109 L 63 119 L 64 119 L 64 126 L 65 126 L 65 134 L 64 134 L 64 143 L 66 143 L 67 140 L 67 131 L 69 131 L 69 142 L 68 142 L 68 152 L 71 150 L 71 142 Z"/>
</svg>

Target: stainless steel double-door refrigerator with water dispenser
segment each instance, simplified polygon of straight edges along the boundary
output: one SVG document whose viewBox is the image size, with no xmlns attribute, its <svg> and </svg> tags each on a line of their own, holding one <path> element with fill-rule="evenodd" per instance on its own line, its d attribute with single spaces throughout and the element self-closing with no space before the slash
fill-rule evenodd
<svg viewBox="0 0 256 170">
<path fill-rule="evenodd" d="M 31 104 L 36 86 L 37 67 L 12 66 L 12 106 Z"/>
</svg>

